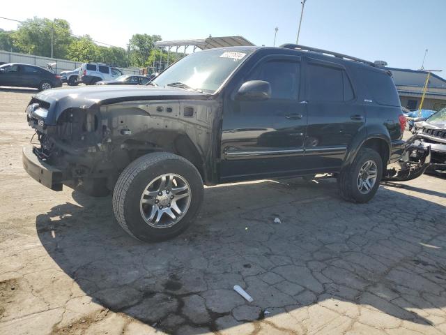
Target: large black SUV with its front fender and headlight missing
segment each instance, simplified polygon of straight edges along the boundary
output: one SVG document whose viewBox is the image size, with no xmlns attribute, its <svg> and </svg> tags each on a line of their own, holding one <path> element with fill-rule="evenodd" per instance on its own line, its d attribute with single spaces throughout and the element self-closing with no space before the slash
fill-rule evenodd
<svg viewBox="0 0 446 335">
<path fill-rule="evenodd" d="M 411 179 L 429 164 L 429 147 L 401 140 L 390 73 L 355 57 L 300 45 L 213 49 L 149 85 L 36 95 L 26 112 L 40 146 L 23 155 L 54 191 L 113 191 L 118 223 L 144 241 L 183 232 L 203 184 L 329 173 L 343 198 L 367 202 L 382 177 Z"/>
</svg>

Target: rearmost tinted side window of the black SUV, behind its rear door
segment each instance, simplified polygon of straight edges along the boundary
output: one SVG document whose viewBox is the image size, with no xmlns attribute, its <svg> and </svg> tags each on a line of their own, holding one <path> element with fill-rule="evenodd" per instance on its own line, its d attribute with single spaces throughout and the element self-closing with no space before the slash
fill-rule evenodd
<svg viewBox="0 0 446 335">
<path fill-rule="evenodd" d="M 397 88 L 390 75 L 376 70 L 358 69 L 362 82 L 367 88 L 367 94 L 371 94 L 380 105 L 400 106 Z"/>
</svg>

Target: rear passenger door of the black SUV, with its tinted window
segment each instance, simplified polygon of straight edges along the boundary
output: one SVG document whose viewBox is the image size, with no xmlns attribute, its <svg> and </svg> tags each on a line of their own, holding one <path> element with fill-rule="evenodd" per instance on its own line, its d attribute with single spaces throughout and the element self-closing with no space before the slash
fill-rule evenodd
<svg viewBox="0 0 446 335">
<path fill-rule="evenodd" d="M 337 170 L 353 137 L 364 127 L 364 111 L 356 103 L 344 66 L 311 58 L 306 63 L 305 165 L 318 172 Z"/>
</svg>

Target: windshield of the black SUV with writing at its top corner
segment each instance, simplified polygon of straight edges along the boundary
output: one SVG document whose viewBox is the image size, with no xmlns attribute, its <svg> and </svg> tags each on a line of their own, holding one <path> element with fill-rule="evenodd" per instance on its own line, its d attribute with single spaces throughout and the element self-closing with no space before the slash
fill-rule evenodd
<svg viewBox="0 0 446 335">
<path fill-rule="evenodd" d="M 206 50 L 189 54 L 164 70 L 152 82 L 160 87 L 167 87 L 169 84 L 180 87 L 178 83 L 181 83 L 185 84 L 182 87 L 213 94 L 253 51 L 226 50 Z"/>
</svg>

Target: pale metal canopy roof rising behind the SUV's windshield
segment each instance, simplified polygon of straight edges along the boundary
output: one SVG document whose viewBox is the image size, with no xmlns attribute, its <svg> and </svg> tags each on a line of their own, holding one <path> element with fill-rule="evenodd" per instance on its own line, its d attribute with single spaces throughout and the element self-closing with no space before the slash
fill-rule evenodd
<svg viewBox="0 0 446 335">
<path fill-rule="evenodd" d="M 194 50 L 198 47 L 201 50 L 212 49 L 214 47 L 238 47 L 245 45 L 254 45 L 243 36 L 224 36 L 224 37 L 208 37 L 196 40 L 162 40 L 155 43 L 155 47 L 189 47 L 193 46 Z"/>
</svg>

